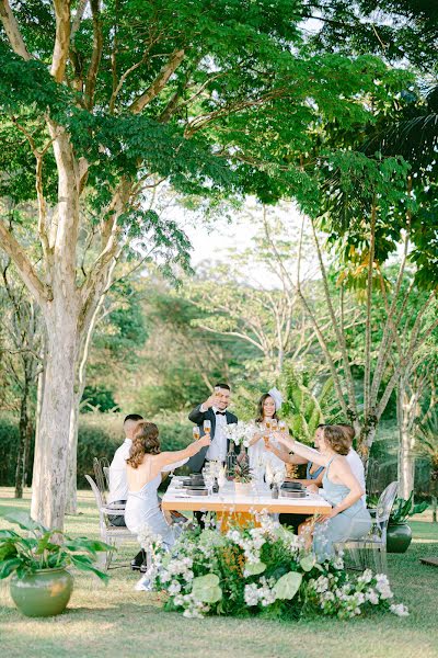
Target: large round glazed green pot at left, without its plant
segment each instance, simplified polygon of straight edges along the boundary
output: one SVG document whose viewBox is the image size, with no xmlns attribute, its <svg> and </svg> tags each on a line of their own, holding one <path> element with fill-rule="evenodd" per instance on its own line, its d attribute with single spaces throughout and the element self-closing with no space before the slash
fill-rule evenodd
<svg viewBox="0 0 438 658">
<path fill-rule="evenodd" d="M 11 597 L 26 616 L 51 616 L 67 606 L 73 577 L 66 569 L 41 569 L 23 578 L 11 578 Z"/>
</svg>

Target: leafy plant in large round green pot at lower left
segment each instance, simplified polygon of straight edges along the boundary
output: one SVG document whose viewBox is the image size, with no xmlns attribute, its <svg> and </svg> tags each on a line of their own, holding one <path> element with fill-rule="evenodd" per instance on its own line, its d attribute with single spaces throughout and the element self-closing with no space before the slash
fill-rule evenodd
<svg viewBox="0 0 438 658">
<path fill-rule="evenodd" d="M 47 530 L 25 512 L 5 520 L 25 532 L 0 531 L 0 579 L 12 574 L 11 597 L 26 616 L 51 616 L 66 609 L 73 589 L 67 567 L 92 571 L 107 581 L 107 574 L 93 564 L 97 552 L 111 549 L 107 544 Z"/>
</svg>

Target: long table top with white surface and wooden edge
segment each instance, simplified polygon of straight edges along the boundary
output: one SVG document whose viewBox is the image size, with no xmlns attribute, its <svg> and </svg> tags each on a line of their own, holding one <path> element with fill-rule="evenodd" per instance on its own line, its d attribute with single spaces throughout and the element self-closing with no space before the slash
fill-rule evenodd
<svg viewBox="0 0 438 658">
<path fill-rule="evenodd" d="M 318 494 L 307 492 L 306 498 L 272 498 L 266 485 L 258 485 L 250 496 L 237 495 L 233 483 L 227 485 L 211 496 L 188 496 L 176 485 L 180 478 L 174 477 L 163 496 L 161 507 L 169 511 L 198 511 L 253 513 L 266 510 L 269 513 L 288 514 L 327 514 L 332 506 Z"/>
</svg>

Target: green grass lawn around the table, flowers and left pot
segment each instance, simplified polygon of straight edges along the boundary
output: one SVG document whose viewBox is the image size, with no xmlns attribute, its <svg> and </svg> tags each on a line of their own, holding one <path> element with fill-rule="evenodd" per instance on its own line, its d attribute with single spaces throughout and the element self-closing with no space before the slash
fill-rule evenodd
<svg viewBox="0 0 438 658">
<path fill-rule="evenodd" d="M 96 536 L 95 508 L 88 491 L 80 492 L 80 515 L 67 520 L 71 534 Z M 27 509 L 0 488 L 1 517 Z M 397 602 L 410 606 L 405 619 L 392 614 L 339 622 L 279 623 L 209 617 L 186 620 L 165 613 L 157 594 L 136 592 L 136 575 L 112 569 L 107 587 L 94 577 L 76 576 L 69 609 L 58 617 L 27 620 L 14 608 L 8 581 L 0 581 L 0 656 L 71 658 L 173 657 L 216 658 L 438 658 L 438 568 L 420 565 L 419 557 L 438 556 L 438 525 L 426 514 L 412 523 L 408 552 L 390 556 L 390 579 Z M 130 556 L 136 552 L 126 554 Z"/>
</svg>

